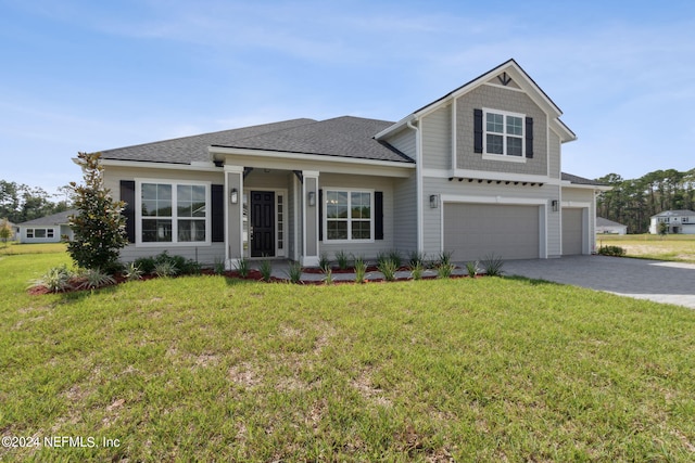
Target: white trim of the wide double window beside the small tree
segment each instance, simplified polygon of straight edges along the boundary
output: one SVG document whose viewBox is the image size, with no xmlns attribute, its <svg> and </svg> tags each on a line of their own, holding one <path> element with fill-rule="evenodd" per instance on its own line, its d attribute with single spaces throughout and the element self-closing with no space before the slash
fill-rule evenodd
<svg viewBox="0 0 695 463">
<path fill-rule="evenodd" d="M 142 241 L 142 183 L 159 183 L 172 185 L 172 241 Z M 176 187 L 205 187 L 205 241 L 178 241 L 178 213 L 176 211 Z M 136 247 L 197 247 L 212 245 L 212 182 L 181 179 L 135 179 L 135 245 Z M 175 214 L 176 213 L 176 214 Z"/>
</svg>

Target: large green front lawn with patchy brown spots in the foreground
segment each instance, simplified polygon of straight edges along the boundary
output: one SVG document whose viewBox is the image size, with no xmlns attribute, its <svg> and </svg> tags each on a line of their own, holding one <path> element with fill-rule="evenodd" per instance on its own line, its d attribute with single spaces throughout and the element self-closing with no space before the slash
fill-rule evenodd
<svg viewBox="0 0 695 463">
<path fill-rule="evenodd" d="M 693 461 L 695 312 L 523 279 L 187 276 L 29 296 L 0 257 L 2 461 Z"/>
</svg>

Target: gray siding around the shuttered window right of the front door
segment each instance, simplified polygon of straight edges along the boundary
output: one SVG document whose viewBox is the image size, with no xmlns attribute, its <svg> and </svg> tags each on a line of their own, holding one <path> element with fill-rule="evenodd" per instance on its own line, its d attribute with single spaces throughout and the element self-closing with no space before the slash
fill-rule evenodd
<svg viewBox="0 0 695 463">
<path fill-rule="evenodd" d="M 319 189 L 324 191 L 330 188 L 336 189 L 365 189 L 383 192 L 383 240 L 370 240 L 352 243 L 330 243 L 319 241 L 319 253 L 326 253 L 329 259 L 333 260 L 336 253 L 343 250 L 354 256 L 362 256 L 365 259 L 374 259 L 380 252 L 392 249 L 393 242 L 393 179 L 388 177 L 371 176 L 345 176 L 340 173 L 321 173 L 318 178 Z M 374 201 L 374 196 L 372 196 Z M 323 207 L 323 205 L 320 205 Z"/>
</svg>

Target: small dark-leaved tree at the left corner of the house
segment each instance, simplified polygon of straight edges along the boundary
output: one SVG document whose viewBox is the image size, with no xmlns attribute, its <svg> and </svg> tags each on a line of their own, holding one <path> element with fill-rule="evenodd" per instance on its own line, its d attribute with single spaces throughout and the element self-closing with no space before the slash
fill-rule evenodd
<svg viewBox="0 0 695 463">
<path fill-rule="evenodd" d="M 71 182 L 77 215 L 71 216 L 74 239 L 67 252 L 77 266 L 85 269 L 113 271 L 117 267 L 118 252 L 128 244 L 126 219 L 121 214 L 122 201 L 114 201 L 104 188 L 101 153 L 79 153 L 84 185 Z"/>
</svg>

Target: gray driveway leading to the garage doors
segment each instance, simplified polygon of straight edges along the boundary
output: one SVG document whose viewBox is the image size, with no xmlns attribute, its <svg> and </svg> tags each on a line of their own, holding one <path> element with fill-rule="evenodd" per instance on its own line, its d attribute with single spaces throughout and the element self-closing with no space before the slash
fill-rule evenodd
<svg viewBox="0 0 695 463">
<path fill-rule="evenodd" d="M 505 275 L 520 275 L 695 309 L 695 263 L 606 256 L 507 260 Z"/>
</svg>

